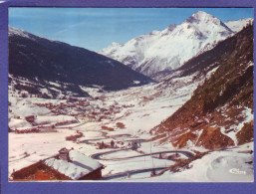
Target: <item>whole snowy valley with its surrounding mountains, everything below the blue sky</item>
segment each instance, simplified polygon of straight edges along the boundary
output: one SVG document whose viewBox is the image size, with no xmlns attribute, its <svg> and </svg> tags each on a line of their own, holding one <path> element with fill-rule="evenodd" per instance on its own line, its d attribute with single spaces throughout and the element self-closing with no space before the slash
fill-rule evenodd
<svg viewBox="0 0 256 194">
<path fill-rule="evenodd" d="M 75 181 L 86 162 L 87 171 L 104 166 L 97 181 L 254 181 L 252 20 L 222 23 L 199 11 L 99 52 L 107 57 L 10 29 L 9 180 L 43 161 Z M 45 47 L 72 52 L 76 70 Z M 78 167 L 51 163 L 64 147 Z M 80 154 L 90 158 L 72 160 Z"/>
</svg>

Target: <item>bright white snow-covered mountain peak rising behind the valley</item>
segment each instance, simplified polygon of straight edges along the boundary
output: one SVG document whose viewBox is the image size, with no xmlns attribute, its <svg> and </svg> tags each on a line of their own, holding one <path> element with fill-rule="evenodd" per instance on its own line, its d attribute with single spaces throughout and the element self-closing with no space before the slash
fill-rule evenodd
<svg viewBox="0 0 256 194">
<path fill-rule="evenodd" d="M 184 62 L 212 49 L 219 41 L 233 34 L 218 18 L 198 11 L 180 25 L 152 31 L 125 45 L 113 43 L 98 53 L 153 78 L 156 73 L 181 67 Z"/>
</svg>

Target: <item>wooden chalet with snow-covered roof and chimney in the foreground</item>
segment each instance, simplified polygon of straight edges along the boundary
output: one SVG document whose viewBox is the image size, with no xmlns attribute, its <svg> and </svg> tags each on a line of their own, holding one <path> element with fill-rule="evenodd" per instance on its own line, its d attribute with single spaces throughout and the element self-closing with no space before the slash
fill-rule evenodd
<svg viewBox="0 0 256 194">
<path fill-rule="evenodd" d="M 104 165 L 74 150 L 62 148 L 59 154 L 40 160 L 12 173 L 13 181 L 99 180 Z"/>
</svg>

